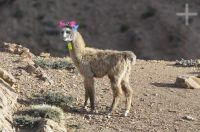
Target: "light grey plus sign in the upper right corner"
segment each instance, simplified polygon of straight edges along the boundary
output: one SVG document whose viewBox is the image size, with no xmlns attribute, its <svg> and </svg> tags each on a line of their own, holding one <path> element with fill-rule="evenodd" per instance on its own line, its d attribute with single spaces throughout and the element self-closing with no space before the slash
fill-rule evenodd
<svg viewBox="0 0 200 132">
<path fill-rule="evenodd" d="M 185 4 L 185 12 L 184 13 L 176 13 L 177 16 L 184 16 L 185 17 L 185 25 L 189 25 L 189 16 L 197 16 L 197 13 L 189 12 L 189 5 L 188 3 Z"/>
</svg>

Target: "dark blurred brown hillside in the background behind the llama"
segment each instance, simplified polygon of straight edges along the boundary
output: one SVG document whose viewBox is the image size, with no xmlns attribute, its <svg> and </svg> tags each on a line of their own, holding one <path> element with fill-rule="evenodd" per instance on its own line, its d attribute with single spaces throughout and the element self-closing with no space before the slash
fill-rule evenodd
<svg viewBox="0 0 200 132">
<path fill-rule="evenodd" d="M 175 60 L 199 58 L 199 20 L 190 25 L 177 17 L 198 0 L 0 0 L 0 40 L 17 42 L 32 52 L 65 56 L 57 22 L 76 20 L 88 46 L 133 50 L 138 58 Z M 0 43 L 1 45 L 2 43 Z"/>
</svg>

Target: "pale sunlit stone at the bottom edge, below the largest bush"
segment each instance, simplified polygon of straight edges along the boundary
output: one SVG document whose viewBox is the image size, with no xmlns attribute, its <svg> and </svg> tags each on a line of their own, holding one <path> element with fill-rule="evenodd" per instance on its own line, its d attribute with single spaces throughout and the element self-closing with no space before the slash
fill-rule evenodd
<svg viewBox="0 0 200 132">
<path fill-rule="evenodd" d="M 36 132 L 67 132 L 63 122 L 58 123 L 50 119 L 42 119 L 39 124 Z"/>
</svg>

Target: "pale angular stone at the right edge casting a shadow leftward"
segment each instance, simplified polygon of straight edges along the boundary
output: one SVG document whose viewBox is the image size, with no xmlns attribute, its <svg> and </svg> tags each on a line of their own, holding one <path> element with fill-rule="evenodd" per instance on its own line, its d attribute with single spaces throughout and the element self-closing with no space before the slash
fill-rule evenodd
<svg viewBox="0 0 200 132">
<path fill-rule="evenodd" d="M 200 89 L 200 78 L 198 76 L 178 76 L 175 85 L 181 88 Z"/>
</svg>

